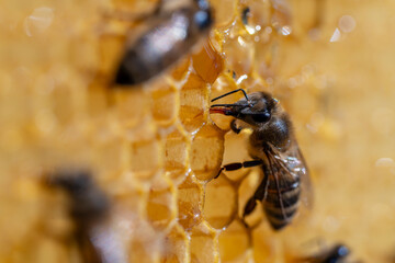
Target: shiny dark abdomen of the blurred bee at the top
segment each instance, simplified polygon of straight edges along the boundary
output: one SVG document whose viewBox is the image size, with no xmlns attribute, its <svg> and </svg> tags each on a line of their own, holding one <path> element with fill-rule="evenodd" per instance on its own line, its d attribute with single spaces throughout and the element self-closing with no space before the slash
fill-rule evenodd
<svg viewBox="0 0 395 263">
<path fill-rule="evenodd" d="M 188 12 L 177 11 L 127 47 L 116 72 L 115 83 L 140 84 L 176 62 L 192 46 L 187 41 L 191 23 Z"/>
</svg>

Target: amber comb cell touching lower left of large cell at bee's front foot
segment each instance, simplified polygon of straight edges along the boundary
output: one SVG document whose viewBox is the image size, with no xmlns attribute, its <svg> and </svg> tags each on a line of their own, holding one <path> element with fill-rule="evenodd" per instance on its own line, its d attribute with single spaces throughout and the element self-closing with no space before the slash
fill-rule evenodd
<svg viewBox="0 0 395 263">
<path fill-rule="evenodd" d="M 203 187 L 188 176 L 178 187 L 178 221 L 187 230 L 202 221 Z"/>
</svg>

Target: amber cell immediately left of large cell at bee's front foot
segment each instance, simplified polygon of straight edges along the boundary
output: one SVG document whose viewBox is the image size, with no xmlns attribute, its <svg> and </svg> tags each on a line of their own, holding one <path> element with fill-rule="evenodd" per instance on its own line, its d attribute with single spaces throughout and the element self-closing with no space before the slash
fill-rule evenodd
<svg viewBox="0 0 395 263">
<path fill-rule="evenodd" d="M 181 127 L 182 129 L 182 127 Z M 188 170 L 188 142 L 184 130 L 176 129 L 166 137 L 165 169 L 176 183 L 185 179 Z"/>
</svg>

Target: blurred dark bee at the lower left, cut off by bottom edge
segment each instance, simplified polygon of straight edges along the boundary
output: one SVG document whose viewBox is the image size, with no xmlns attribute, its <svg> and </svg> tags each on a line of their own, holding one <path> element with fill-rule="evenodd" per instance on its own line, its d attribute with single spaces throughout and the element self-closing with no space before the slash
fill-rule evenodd
<svg viewBox="0 0 395 263">
<path fill-rule="evenodd" d="M 89 172 L 60 170 L 49 175 L 47 184 L 65 191 L 69 197 L 74 236 L 84 263 L 127 262 L 119 237 L 108 225 L 110 199 Z"/>
</svg>

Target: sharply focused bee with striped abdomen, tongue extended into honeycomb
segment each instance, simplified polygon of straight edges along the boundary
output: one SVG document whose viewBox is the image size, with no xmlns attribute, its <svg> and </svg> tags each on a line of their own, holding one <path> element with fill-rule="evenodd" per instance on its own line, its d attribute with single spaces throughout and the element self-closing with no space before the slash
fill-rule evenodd
<svg viewBox="0 0 395 263">
<path fill-rule="evenodd" d="M 247 95 L 239 89 L 215 98 L 212 102 L 238 91 L 244 92 L 244 99 L 234 104 L 214 104 L 210 113 L 235 117 L 230 128 L 236 134 L 244 128 L 252 130 L 249 155 L 253 160 L 226 164 L 216 178 L 223 170 L 260 165 L 263 180 L 247 202 L 242 217 L 255 209 L 257 201 L 261 201 L 270 225 L 274 230 L 280 230 L 292 221 L 301 201 L 311 205 L 306 162 L 295 140 L 289 115 L 271 94 L 255 92 Z M 302 187 L 307 187 L 304 188 L 304 196 L 301 195 Z"/>
</svg>

